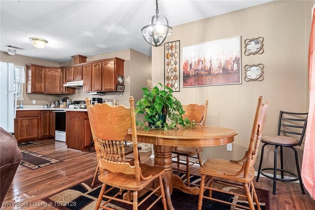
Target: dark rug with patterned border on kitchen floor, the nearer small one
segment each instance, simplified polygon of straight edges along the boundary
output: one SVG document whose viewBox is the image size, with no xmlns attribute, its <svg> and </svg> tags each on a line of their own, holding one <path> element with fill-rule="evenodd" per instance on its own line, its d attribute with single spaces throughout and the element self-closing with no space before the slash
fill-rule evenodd
<svg viewBox="0 0 315 210">
<path fill-rule="evenodd" d="M 52 164 L 63 162 L 55 158 L 47 157 L 29 150 L 21 150 L 23 159 L 20 163 L 21 166 L 24 166 L 28 169 L 40 169 L 45 166 L 50 166 Z"/>
</svg>

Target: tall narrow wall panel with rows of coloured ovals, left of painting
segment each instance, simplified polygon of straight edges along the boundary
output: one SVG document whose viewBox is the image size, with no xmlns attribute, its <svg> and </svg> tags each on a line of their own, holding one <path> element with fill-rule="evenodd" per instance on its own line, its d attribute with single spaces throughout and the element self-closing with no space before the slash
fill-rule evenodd
<svg viewBox="0 0 315 210">
<path fill-rule="evenodd" d="M 174 92 L 179 92 L 180 41 L 165 43 L 164 55 L 164 84 Z"/>
</svg>

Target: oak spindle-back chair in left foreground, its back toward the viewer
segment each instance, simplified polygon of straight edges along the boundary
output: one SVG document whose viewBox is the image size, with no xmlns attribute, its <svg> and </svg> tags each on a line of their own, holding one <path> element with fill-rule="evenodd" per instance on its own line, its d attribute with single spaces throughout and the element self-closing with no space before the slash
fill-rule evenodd
<svg viewBox="0 0 315 210">
<path fill-rule="evenodd" d="M 132 96 L 129 97 L 129 105 L 130 108 L 124 105 L 111 106 L 104 103 L 87 107 L 100 170 L 98 180 L 103 183 L 95 210 L 99 208 L 111 209 L 108 204 L 112 201 L 132 205 L 132 209 L 137 210 L 144 204 L 144 201 L 157 194 L 157 198 L 150 202 L 151 205 L 146 208 L 151 209 L 158 200 L 161 200 L 163 209 L 166 210 L 166 199 L 162 184 L 162 175 L 164 175 L 165 170 L 162 167 L 139 163 L 134 100 Z M 126 161 L 124 143 L 130 128 L 134 158 L 132 164 Z M 142 189 L 149 190 L 151 193 L 138 202 L 138 191 Z M 115 190 L 116 192 L 112 192 Z M 122 196 L 125 191 L 127 197 Z M 105 198 L 105 201 L 101 204 L 103 198 Z M 141 209 L 143 209 L 142 206 Z"/>
</svg>

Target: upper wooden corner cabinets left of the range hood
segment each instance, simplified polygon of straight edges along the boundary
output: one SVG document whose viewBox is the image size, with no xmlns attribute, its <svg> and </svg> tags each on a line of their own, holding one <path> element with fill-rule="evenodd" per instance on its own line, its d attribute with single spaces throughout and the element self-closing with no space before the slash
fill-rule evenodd
<svg viewBox="0 0 315 210">
<path fill-rule="evenodd" d="M 64 70 L 56 67 L 26 65 L 26 93 L 74 94 L 74 88 L 64 88 Z"/>
</svg>

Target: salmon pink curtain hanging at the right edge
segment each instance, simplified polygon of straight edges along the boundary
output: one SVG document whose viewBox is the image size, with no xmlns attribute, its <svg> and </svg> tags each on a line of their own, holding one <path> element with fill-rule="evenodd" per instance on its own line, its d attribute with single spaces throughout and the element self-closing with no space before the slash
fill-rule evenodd
<svg viewBox="0 0 315 210">
<path fill-rule="evenodd" d="M 309 116 L 305 134 L 305 144 L 302 162 L 302 180 L 306 190 L 315 199 L 315 8 L 309 46 Z"/>
</svg>

